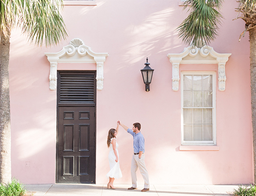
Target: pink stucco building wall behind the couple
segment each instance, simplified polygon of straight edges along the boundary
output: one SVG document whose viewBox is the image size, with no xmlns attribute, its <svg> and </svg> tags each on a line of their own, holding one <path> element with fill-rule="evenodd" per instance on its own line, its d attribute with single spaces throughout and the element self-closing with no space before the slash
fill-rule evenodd
<svg viewBox="0 0 256 196">
<path fill-rule="evenodd" d="M 57 47 L 37 48 L 13 30 L 10 51 L 12 176 L 22 183 L 56 179 L 56 91 L 49 89 L 50 63 L 45 52 L 58 52 L 80 38 L 96 53 L 109 53 L 104 63 L 104 89 L 97 91 L 96 183 L 107 183 L 106 137 L 120 120 L 140 122 L 151 183 L 233 184 L 253 181 L 248 34 L 238 42 L 244 22 L 236 18 L 236 1 L 223 2 L 219 36 L 210 44 L 232 53 L 226 63 L 226 90 L 217 89 L 219 151 L 180 151 L 181 92 L 172 90 L 168 53 L 186 47 L 176 27 L 186 18 L 178 0 L 98 0 L 95 6 L 66 5 L 63 18 L 69 36 Z M 155 69 L 150 92 L 140 69 L 146 58 Z M 95 64 L 58 64 L 59 70 L 96 70 Z M 214 65 L 181 64 L 180 71 L 216 71 Z M 217 77 L 217 76 L 216 76 Z M 216 78 L 217 80 L 217 78 Z M 218 88 L 218 87 L 217 87 Z M 132 136 L 120 128 L 120 166 L 131 183 Z M 30 162 L 30 165 L 26 165 Z M 137 174 L 138 182 L 143 183 Z"/>
</svg>

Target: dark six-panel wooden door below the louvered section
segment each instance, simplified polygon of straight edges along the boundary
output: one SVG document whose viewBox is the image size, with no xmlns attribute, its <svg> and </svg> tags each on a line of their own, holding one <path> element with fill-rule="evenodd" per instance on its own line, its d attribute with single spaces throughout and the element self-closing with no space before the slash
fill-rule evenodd
<svg viewBox="0 0 256 196">
<path fill-rule="evenodd" d="M 59 106 L 58 183 L 95 183 L 95 107 Z"/>
</svg>

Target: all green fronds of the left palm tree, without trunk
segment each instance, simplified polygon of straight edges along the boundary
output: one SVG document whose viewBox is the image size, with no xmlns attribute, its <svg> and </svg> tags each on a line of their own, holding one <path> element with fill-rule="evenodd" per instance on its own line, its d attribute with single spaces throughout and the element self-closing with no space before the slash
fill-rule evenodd
<svg viewBox="0 0 256 196">
<path fill-rule="evenodd" d="M 19 26 L 36 45 L 56 45 L 67 36 L 62 5 L 62 0 L 0 0 L 0 31 Z"/>
</svg>

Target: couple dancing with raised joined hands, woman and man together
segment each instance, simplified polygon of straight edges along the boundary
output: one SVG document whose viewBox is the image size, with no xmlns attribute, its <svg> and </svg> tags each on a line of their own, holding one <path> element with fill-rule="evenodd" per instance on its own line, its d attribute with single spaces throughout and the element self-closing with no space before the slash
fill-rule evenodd
<svg viewBox="0 0 256 196">
<path fill-rule="evenodd" d="M 145 181 L 144 183 L 144 189 L 142 189 L 142 192 L 149 191 L 149 180 L 148 180 L 148 171 L 146 169 L 145 165 L 145 141 L 144 137 L 141 134 L 141 124 L 140 123 L 134 123 L 132 129 L 129 129 L 125 125 L 123 125 L 120 121 L 117 121 L 117 129 L 110 129 L 108 132 L 108 140 L 107 144 L 110 148 L 108 160 L 109 160 L 109 166 L 110 171 L 106 175 L 109 177 L 108 182 L 108 189 L 115 189 L 113 186 L 113 182 L 115 179 L 122 177 L 122 172 L 119 167 L 119 154 L 118 154 L 118 144 L 116 142 L 116 136 L 118 134 L 119 125 L 121 125 L 124 130 L 126 130 L 128 133 L 130 133 L 134 137 L 134 154 L 132 157 L 132 165 L 131 165 L 131 175 L 132 175 L 132 187 L 128 188 L 128 190 L 137 189 L 137 176 L 136 171 L 139 167 L 139 171 L 141 172 L 141 175 L 143 176 L 143 179 Z"/>
</svg>

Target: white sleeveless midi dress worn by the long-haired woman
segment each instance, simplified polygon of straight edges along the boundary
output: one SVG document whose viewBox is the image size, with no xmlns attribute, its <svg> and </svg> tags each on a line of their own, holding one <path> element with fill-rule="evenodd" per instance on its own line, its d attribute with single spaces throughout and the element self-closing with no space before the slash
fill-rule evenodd
<svg viewBox="0 0 256 196">
<path fill-rule="evenodd" d="M 111 142 L 113 139 L 115 140 L 115 138 L 111 138 Z M 118 146 L 119 145 L 117 142 L 115 143 L 115 146 L 116 146 L 116 151 L 117 151 L 117 156 L 118 156 L 118 162 L 115 162 L 115 153 L 113 150 L 113 145 L 112 145 L 112 143 L 110 143 L 110 146 L 109 146 L 110 151 L 108 154 L 110 171 L 108 172 L 108 174 L 106 176 L 110 177 L 110 178 L 118 179 L 118 178 L 122 178 L 122 172 L 119 167 L 119 154 L 118 154 Z"/>
</svg>

